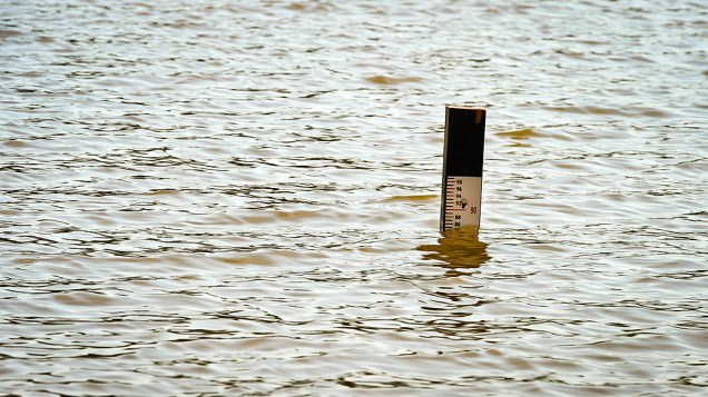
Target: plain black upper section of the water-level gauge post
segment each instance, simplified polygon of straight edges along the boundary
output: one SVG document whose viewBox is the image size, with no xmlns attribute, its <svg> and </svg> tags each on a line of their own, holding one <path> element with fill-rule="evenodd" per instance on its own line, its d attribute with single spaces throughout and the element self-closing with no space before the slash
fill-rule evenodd
<svg viewBox="0 0 708 397">
<path fill-rule="evenodd" d="M 485 119 L 484 108 L 445 108 L 443 180 L 449 176 L 482 177 Z"/>
</svg>

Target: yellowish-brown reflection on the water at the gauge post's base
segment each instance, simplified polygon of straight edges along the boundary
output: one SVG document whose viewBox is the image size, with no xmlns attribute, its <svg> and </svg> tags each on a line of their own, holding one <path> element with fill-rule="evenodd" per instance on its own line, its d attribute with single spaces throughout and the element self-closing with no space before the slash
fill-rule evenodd
<svg viewBox="0 0 708 397">
<path fill-rule="evenodd" d="M 423 258 L 445 261 L 451 268 L 476 268 L 490 259 L 486 242 L 479 239 L 479 227 L 463 227 L 444 231 L 437 244 L 422 245 L 417 249 Z"/>
</svg>

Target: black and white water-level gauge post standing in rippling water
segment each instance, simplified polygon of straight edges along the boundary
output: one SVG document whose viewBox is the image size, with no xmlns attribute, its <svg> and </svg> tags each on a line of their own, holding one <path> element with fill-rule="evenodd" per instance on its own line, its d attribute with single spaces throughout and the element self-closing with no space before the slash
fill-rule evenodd
<svg viewBox="0 0 708 397">
<path fill-rule="evenodd" d="M 479 228 L 486 110 L 445 107 L 440 231 Z"/>
</svg>

